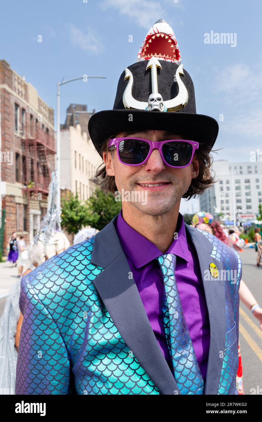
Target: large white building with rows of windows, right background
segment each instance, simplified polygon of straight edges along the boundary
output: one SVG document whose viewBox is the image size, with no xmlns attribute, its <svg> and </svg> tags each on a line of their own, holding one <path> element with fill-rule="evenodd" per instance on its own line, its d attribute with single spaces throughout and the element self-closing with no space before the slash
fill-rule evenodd
<svg viewBox="0 0 262 422">
<path fill-rule="evenodd" d="M 262 203 L 262 162 L 217 160 L 212 167 L 215 180 L 218 180 L 214 184 L 216 213 L 223 213 L 228 219 L 233 219 L 236 214 L 240 220 L 256 215 L 259 203 Z M 202 195 L 203 198 L 200 197 L 201 205 L 206 202 L 208 190 Z M 214 213 L 212 210 L 209 212 Z"/>
</svg>

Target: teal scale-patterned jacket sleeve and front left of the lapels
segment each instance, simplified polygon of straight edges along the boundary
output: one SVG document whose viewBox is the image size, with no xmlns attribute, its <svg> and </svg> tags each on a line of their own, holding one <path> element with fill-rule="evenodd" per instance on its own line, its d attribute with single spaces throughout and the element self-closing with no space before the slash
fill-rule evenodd
<svg viewBox="0 0 262 422">
<path fill-rule="evenodd" d="M 93 243 L 71 246 L 21 279 L 16 394 L 160 394 L 92 282 L 103 271 L 90 263 Z"/>
</svg>

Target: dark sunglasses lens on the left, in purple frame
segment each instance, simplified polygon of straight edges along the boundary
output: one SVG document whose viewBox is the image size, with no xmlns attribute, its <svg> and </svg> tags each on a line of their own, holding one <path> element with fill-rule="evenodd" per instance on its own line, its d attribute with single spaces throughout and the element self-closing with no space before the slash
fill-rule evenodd
<svg viewBox="0 0 262 422">
<path fill-rule="evenodd" d="M 140 164 L 146 160 L 149 149 L 147 142 L 124 139 L 119 143 L 119 157 L 124 164 Z"/>
</svg>

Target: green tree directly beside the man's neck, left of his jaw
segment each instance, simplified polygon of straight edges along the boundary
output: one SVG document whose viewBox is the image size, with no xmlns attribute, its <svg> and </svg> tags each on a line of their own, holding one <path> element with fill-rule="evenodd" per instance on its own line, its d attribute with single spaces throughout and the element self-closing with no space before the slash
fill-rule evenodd
<svg viewBox="0 0 262 422">
<path fill-rule="evenodd" d="M 97 230 L 102 230 L 111 219 L 119 214 L 122 202 L 116 202 L 114 196 L 105 194 L 101 189 L 95 189 L 94 195 L 87 200 L 88 225 Z"/>
</svg>

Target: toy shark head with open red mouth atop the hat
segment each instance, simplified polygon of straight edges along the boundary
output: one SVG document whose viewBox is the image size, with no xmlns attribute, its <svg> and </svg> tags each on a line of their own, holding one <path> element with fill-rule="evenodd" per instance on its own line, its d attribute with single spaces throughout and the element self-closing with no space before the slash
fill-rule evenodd
<svg viewBox="0 0 262 422">
<path fill-rule="evenodd" d="M 146 38 L 138 51 L 138 62 L 150 60 L 153 56 L 159 60 L 177 63 L 177 65 L 181 63 L 175 34 L 164 19 L 159 19 L 146 34 Z"/>
</svg>

